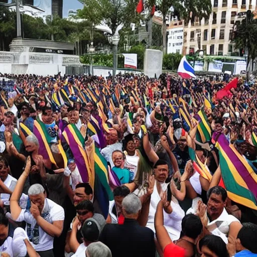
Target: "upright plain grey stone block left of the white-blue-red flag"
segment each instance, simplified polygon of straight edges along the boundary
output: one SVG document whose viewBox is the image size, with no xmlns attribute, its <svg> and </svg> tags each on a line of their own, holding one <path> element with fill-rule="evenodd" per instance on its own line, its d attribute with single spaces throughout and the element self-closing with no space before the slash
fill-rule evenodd
<svg viewBox="0 0 257 257">
<path fill-rule="evenodd" d="M 163 52 L 160 50 L 146 49 L 144 57 L 144 73 L 150 78 L 158 78 L 162 74 Z"/>
</svg>

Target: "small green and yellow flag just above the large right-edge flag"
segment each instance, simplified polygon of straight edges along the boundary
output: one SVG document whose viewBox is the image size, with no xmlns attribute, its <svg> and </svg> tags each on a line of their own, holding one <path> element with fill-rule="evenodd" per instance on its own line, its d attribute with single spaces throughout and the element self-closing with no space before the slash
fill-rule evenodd
<svg viewBox="0 0 257 257">
<path fill-rule="evenodd" d="M 197 133 L 196 133 L 196 140 L 200 143 L 206 143 L 211 140 L 211 127 L 208 122 L 207 116 L 203 109 L 197 112 Z"/>
</svg>

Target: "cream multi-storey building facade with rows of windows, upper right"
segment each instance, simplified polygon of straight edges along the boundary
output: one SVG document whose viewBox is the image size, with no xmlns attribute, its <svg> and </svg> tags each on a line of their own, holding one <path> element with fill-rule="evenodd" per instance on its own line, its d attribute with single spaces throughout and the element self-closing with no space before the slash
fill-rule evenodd
<svg viewBox="0 0 257 257">
<path fill-rule="evenodd" d="M 209 20 L 184 24 L 184 54 L 203 50 L 207 55 L 231 55 L 237 51 L 231 43 L 234 23 L 238 14 L 254 11 L 256 0 L 211 0 Z"/>
</svg>

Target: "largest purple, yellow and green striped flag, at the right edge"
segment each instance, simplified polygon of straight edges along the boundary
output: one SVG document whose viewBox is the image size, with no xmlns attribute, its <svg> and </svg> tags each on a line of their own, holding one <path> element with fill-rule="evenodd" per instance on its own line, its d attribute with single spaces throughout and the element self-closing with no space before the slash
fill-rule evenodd
<svg viewBox="0 0 257 257">
<path fill-rule="evenodd" d="M 219 150 L 221 176 L 228 197 L 257 210 L 257 175 L 224 134 L 214 133 L 213 139 L 216 139 Z"/>
</svg>

